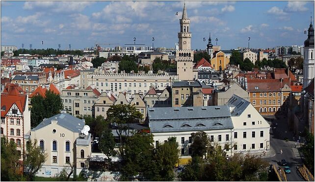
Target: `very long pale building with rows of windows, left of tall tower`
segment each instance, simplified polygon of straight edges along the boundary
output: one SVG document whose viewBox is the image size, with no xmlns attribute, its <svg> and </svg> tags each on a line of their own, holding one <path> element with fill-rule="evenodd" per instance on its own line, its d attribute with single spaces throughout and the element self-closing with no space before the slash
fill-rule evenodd
<svg viewBox="0 0 315 182">
<path fill-rule="evenodd" d="M 167 74 L 129 74 L 129 73 L 92 73 L 81 71 L 82 87 L 87 88 L 94 84 L 95 88 L 103 92 L 111 91 L 115 96 L 124 90 L 131 94 L 145 95 L 150 87 L 164 89 L 171 86 L 173 80 L 178 79 L 177 75 Z"/>
</svg>

